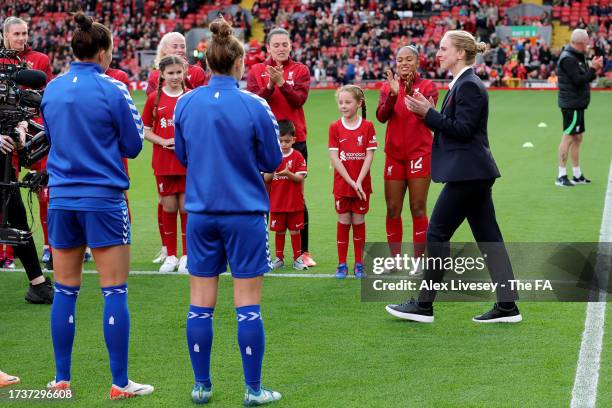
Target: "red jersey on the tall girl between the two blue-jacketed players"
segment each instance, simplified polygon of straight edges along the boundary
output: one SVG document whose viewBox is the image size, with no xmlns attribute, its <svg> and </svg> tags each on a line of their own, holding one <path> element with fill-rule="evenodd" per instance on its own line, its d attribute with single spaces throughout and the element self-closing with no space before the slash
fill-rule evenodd
<svg viewBox="0 0 612 408">
<path fill-rule="evenodd" d="M 142 123 L 151 128 L 153 133 L 164 139 L 174 139 L 174 108 L 178 96 L 169 96 L 164 90 L 157 104 L 157 118 L 153 122 L 153 109 L 156 94 L 147 97 L 144 111 L 142 112 Z M 174 150 L 166 149 L 158 144 L 153 145 L 152 159 L 153 173 L 156 176 L 180 176 L 186 174 L 185 167 L 178 161 Z"/>
</svg>

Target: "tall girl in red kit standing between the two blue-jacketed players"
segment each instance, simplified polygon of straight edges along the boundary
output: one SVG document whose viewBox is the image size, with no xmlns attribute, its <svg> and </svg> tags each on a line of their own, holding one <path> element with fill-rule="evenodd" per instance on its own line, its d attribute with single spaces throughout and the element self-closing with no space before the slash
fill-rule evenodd
<svg viewBox="0 0 612 408">
<path fill-rule="evenodd" d="M 178 98 L 185 93 L 185 63 L 182 58 L 169 55 L 159 62 L 159 70 L 159 86 L 155 93 L 148 96 L 142 113 L 145 139 L 153 143 L 153 172 L 163 207 L 162 245 L 168 250 L 159 271 L 174 272 L 178 268 L 179 272 L 187 273 L 186 170 L 174 154 L 174 107 Z M 165 81 L 163 86 L 162 81 Z M 179 210 L 183 238 L 183 256 L 180 260 L 176 256 L 176 216 Z"/>
</svg>

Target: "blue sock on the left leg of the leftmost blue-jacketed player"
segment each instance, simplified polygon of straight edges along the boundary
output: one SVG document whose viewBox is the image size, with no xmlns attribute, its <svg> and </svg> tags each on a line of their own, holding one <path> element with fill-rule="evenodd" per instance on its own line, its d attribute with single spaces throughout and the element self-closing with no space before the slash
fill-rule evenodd
<svg viewBox="0 0 612 408">
<path fill-rule="evenodd" d="M 70 381 L 72 343 L 74 343 L 75 310 L 80 286 L 55 282 L 51 305 L 51 338 L 55 355 L 55 381 Z"/>
</svg>

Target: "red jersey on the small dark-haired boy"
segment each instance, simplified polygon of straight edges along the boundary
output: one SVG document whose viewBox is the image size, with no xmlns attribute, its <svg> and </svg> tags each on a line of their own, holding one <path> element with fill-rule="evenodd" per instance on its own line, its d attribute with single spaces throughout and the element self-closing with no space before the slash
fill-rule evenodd
<svg viewBox="0 0 612 408">
<path fill-rule="evenodd" d="M 275 173 L 289 168 L 295 174 L 306 176 L 306 161 L 304 156 L 295 149 L 289 154 L 283 155 L 283 161 L 275 170 Z M 270 211 L 271 212 L 295 212 L 304 211 L 304 183 L 296 183 L 289 180 L 287 176 L 274 175 L 270 187 Z"/>
</svg>

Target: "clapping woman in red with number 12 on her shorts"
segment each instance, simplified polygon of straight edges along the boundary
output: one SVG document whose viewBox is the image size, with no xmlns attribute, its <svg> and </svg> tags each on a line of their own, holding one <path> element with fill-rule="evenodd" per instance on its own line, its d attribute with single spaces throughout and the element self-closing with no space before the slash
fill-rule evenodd
<svg viewBox="0 0 612 408">
<path fill-rule="evenodd" d="M 395 56 L 397 72 L 387 71 L 387 82 L 380 90 L 376 117 L 387 123 L 385 135 L 385 201 L 387 202 L 387 242 L 391 255 L 399 254 L 403 239 L 402 209 L 408 190 L 412 215 L 414 256 L 424 252 L 427 231 L 427 194 L 431 183 L 431 130 L 423 118 L 404 103 L 406 95 L 420 92 L 435 105 L 436 85 L 421 78 L 419 52 L 407 45 Z"/>
</svg>

